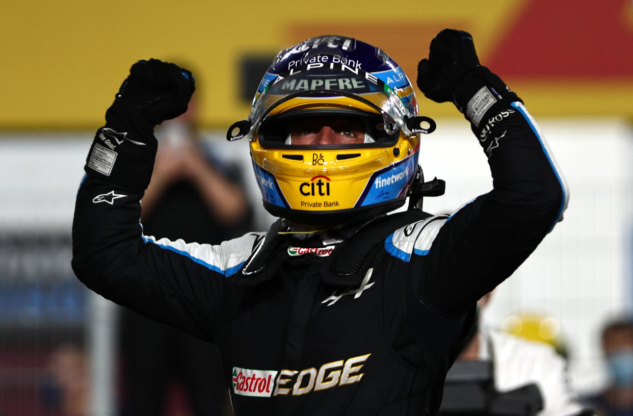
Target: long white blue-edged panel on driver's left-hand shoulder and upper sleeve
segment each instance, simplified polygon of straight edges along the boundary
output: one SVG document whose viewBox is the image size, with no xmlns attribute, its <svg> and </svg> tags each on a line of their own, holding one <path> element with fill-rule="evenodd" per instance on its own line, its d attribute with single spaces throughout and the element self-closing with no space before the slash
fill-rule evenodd
<svg viewBox="0 0 633 416">
<path fill-rule="evenodd" d="M 210 268 L 225 276 L 237 272 L 253 251 L 254 243 L 260 241 L 265 232 L 249 232 L 244 236 L 223 241 L 220 244 L 185 243 L 184 240 L 161 238 L 156 240 L 153 236 L 142 236 L 145 243 L 153 243 L 180 255 L 191 258 L 196 263 Z"/>
</svg>

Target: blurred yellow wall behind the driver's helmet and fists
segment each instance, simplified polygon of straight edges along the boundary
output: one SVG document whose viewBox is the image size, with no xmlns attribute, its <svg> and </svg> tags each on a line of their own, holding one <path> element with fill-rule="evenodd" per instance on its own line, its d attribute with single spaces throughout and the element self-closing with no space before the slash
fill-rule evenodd
<svg viewBox="0 0 633 416">
<path fill-rule="evenodd" d="M 437 30 L 463 28 L 477 34 L 485 65 L 494 40 L 526 1 L 216 3 L 5 0 L 0 129 L 96 128 L 130 65 L 151 57 L 190 63 L 199 81 L 203 124 L 225 127 L 248 115 L 248 104 L 239 100 L 236 87 L 242 54 L 272 55 L 325 32 L 362 35 L 360 39 L 382 46 L 415 79 L 415 63 L 427 55 Z M 556 89 L 548 89 L 543 99 L 540 85 L 523 84 L 513 89 L 532 113 L 568 112 Z M 621 83 L 598 89 L 607 102 L 603 110 L 593 108 L 590 113 L 605 112 L 614 94 L 625 101 L 633 92 L 630 84 L 624 85 L 627 94 Z M 578 90 L 575 85 L 563 89 L 565 94 Z M 575 101 L 573 94 L 568 101 Z M 450 104 L 429 106 L 429 111 L 435 117 L 455 115 Z"/>
</svg>

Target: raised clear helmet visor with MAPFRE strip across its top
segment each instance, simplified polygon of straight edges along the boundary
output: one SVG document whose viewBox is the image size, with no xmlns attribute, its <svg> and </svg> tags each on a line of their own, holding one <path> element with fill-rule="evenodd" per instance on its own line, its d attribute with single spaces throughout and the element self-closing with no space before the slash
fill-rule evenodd
<svg viewBox="0 0 633 416">
<path fill-rule="evenodd" d="M 323 62 L 271 80 L 254 100 L 248 135 L 257 131 L 263 146 L 284 146 L 289 120 L 308 115 L 358 118 L 370 138 L 365 142 L 382 146 L 397 140 L 400 130 L 415 134 L 407 125 L 413 115 L 389 85 L 358 67 Z"/>
</svg>

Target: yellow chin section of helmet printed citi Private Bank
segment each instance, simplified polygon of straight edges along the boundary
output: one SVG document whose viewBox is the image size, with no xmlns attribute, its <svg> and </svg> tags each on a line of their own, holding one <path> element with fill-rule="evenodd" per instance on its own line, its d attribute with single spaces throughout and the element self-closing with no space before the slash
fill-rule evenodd
<svg viewBox="0 0 633 416">
<path fill-rule="evenodd" d="M 353 149 L 265 149 L 253 140 L 251 156 L 265 201 L 291 210 L 331 211 L 403 198 L 415 173 L 417 146 L 417 136 L 390 148 Z M 392 168 L 396 172 L 384 174 Z"/>
</svg>

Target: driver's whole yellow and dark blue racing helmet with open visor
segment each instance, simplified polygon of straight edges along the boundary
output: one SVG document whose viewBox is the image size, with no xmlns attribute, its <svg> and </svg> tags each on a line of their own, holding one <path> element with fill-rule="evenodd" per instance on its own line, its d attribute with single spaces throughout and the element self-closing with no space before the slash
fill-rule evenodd
<svg viewBox="0 0 633 416">
<path fill-rule="evenodd" d="M 298 120 L 354 120 L 362 142 L 295 143 Z M 410 80 L 379 47 L 327 35 L 281 51 L 266 71 L 248 119 L 227 139 L 248 137 L 263 204 L 300 224 L 367 220 L 403 205 L 418 172 L 420 134 Z M 418 172 L 419 177 L 419 172 Z"/>
</svg>

